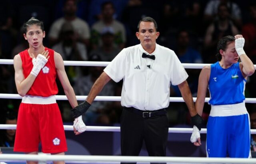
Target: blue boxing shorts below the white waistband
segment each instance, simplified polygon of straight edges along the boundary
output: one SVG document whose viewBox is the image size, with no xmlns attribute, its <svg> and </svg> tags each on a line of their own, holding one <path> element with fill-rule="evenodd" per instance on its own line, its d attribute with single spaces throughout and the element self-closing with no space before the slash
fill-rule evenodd
<svg viewBox="0 0 256 164">
<path fill-rule="evenodd" d="M 207 123 L 207 157 L 250 158 L 249 115 L 210 116 Z"/>
</svg>

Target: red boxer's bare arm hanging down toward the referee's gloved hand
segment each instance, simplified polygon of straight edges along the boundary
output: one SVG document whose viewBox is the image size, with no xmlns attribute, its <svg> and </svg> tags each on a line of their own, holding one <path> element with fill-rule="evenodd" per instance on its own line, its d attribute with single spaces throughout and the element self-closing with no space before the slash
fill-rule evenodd
<svg viewBox="0 0 256 164">
<path fill-rule="evenodd" d="M 59 53 L 54 52 L 54 62 L 55 62 L 58 78 L 60 79 L 60 83 L 64 89 L 65 95 L 67 96 L 71 107 L 74 108 L 78 105 L 76 100 L 76 95 L 74 93 L 74 89 L 70 85 L 68 76 L 64 68 L 63 59 Z"/>
</svg>

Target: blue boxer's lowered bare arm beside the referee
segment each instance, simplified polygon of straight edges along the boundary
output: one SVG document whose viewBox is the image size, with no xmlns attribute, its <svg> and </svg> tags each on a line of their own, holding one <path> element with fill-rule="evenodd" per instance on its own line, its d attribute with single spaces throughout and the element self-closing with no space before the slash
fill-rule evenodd
<svg viewBox="0 0 256 164">
<path fill-rule="evenodd" d="M 198 90 L 197 90 L 197 98 L 196 98 L 196 111 L 198 115 L 202 116 L 204 109 L 204 101 L 206 97 L 206 92 L 208 88 L 208 81 L 210 77 L 210 66 L 206 66 L 202 69 L 199 79 L 198 79 Z"/>
</svg>

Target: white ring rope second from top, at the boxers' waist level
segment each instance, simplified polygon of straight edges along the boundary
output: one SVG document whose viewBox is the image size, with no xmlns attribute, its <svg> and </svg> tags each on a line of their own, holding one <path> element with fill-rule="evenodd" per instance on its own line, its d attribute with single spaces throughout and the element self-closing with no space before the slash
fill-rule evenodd
<svg viewBox="0 0 256 164">
<path fill-rule="evenodd" d="M 87 96 L 76 96 L 78 101 L 84 101 Z M 22 99 L 18 94 L 0 93 L 0 99 Z M 66 95 L 56 95 L 56 100 L 68 100 Z M 194 102 L 196 102 L 196 97 L 193 97 Z M 206 103 L 210 100 L 209 97 L 205 98 Z M 94 101 L 121 101 L 120 96 L 96 96 Z M 170 102 L 184 102 L 182 97 L 170 97 Z M 246 103 L 256 103 L 256 98 L 246 98 Z"/>
</svg>

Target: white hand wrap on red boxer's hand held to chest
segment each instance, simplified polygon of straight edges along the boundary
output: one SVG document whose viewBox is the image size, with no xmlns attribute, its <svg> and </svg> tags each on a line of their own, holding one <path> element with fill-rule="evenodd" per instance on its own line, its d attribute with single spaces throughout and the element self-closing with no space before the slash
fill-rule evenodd
<svg viewBox="0 0 256 164">
<path fill-rule="evenodd" d="M 35 77 L 38 75 L 40 70 L 44 67 L 44 65 L 47 63 L 48 59 L 46 59 L 45 56 L 38 54 L 36 57 L 36 60 L 33 58 L 32 63 L 34 67 L 32 68 L 30 74 L 34 75 Z"/>
</svg>

